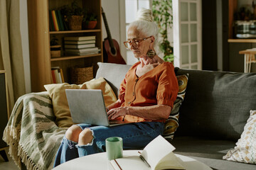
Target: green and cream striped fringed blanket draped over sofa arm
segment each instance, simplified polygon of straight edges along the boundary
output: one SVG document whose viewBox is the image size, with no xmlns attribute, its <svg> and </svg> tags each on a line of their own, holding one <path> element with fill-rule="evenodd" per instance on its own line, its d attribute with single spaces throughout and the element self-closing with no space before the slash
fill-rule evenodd
<svg viewBox="0 0 256 170">
<path fill-rule="evenodd" d="M 21 162 L 27 169 L 52 169 L 65 131 L 55 125 L 48 93 L 31 93 L 16 101 L 3 140 L 19 169 Z"/>
</svg>

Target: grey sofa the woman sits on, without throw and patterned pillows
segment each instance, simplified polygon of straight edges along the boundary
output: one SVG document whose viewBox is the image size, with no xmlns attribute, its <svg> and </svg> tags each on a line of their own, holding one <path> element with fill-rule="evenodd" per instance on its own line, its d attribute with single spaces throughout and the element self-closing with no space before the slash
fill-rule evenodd
<svg viewBox="0 0 256 170">
<path fill-rule="evenodd" d="M 104 77 L 117 94 L 129 65 L 98 63 L 96 79 Z M 175 69 L 189 74 L 180 108 L 179 127 L 170 141 L 175 153 L 192 157 L 212 169 L 256 169 L 256 165 L 223 160 L 235 147 L 256 110 L 256 74 Z"/>
</svg>

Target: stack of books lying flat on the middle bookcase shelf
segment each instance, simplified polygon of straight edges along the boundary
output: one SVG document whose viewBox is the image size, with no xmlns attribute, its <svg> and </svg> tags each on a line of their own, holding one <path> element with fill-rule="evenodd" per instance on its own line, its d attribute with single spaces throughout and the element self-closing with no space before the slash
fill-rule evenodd
<svg viewBox="0 0 256 170">
<path fill-rule="evenodd" d="M 93 55 L 100 49 L 95 47 L 96 36 L 65 37 L 64 47 L 66 55 Z"/>
</svg>

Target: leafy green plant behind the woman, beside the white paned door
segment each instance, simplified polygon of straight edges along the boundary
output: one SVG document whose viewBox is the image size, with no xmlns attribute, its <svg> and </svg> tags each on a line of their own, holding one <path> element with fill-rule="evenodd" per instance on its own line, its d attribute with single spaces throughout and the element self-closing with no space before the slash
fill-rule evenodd
<svg viewBox="0 0 256 170">
<path fill-rule="evenodd" d="M 168 40 L 168 29 L 172 27 L 172 0 L 153 0 L 152 13 L 154 21 L 159 26 L 161 40 L 159 48 L 164 52 L 164 61 L 174 62 L 174 47 L 171 47 Z"/>
</svg>

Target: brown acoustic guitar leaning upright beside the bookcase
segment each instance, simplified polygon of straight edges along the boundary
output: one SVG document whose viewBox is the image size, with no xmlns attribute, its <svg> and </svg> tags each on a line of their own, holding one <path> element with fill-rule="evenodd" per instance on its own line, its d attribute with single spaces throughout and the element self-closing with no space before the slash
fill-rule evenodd
<svg viewBox="0 0 256 170">
<path fill-rule="evenodd" d="M 121 53 L 118 42 L 111 38 L 110 28 L 107 25 L 107 18 L 102 8 L 102 17 L 107 31 L 107 38 L 103 41 L 103 62 L 126 64 Z"/>
</svg>

